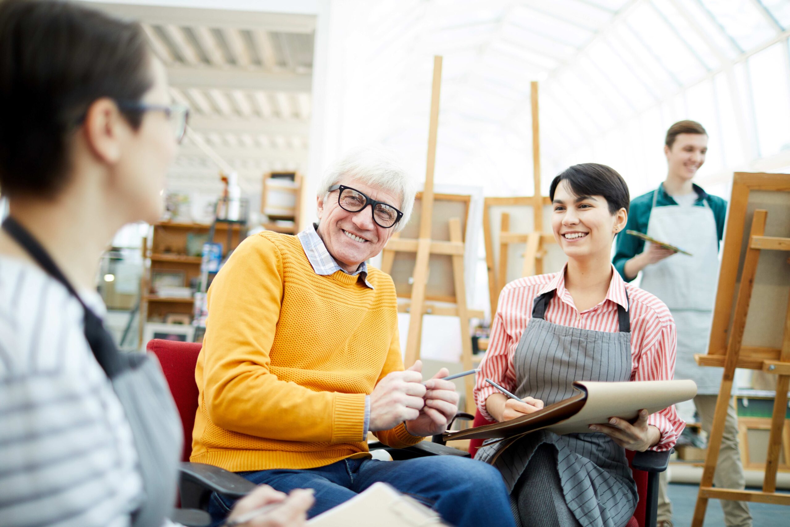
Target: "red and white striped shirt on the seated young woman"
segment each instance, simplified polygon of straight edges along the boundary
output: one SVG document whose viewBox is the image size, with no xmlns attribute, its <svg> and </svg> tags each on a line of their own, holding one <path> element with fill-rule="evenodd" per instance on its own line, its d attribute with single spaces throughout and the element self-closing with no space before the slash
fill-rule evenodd
<svg viewBox="0 0 790 527">
<path fill-rule="evenodd" d="M 628 310 L 631 322 L 631 378 L 632 381 L 670 380 L 675 375 L 675 348 L 677 333 L 668 307 L 649 292 L 626 284 L 620 274 L 611 268 L 611 282 L 606 298 L 581 313 L 574 299 L 565 288 L 565 268 L 559 273 L 541 274 L 513 280 L 502 289 L 499 305 L 491 325 L 491 340 L 480 374 L 476 375 L 475 401 L 477 408 L 488 420 L 486 399 L 498 393 L 485 382 L 486 378 L 497 382 L 507 390 L 515 390 L 516 372 L 513 354 L 516 352 L 521 334 L 532 318 L 532 302 L 544 292 L 556 290 L 546 309 L 547 322 L 592 331 L 619 330 L 617 305 Z M 626 300 L 628 292 L 630 307 Z M 661 432 L 661 439 L 651 450 L 669 450 L 675 446 L 680 432 L 686 424 L 678 417 L 675 406 L 651 414 L 648 423 Z"/>
</svg>

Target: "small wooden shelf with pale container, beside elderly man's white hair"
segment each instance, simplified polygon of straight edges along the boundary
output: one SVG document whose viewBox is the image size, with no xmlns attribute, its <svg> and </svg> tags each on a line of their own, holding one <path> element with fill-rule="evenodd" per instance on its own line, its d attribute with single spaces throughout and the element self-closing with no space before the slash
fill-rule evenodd
<svg viewBox="0 0 790 527">
<path fill-rule="evenodd" d="M 303 179 L 299 172 L 269 172 L 263 176 L 261 226 L 267 231 L 297 234 Z"/>
</svg>

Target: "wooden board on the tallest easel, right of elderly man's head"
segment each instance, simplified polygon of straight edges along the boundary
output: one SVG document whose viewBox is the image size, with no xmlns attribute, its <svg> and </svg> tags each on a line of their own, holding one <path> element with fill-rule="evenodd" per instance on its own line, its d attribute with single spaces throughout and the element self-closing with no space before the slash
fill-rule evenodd
<svg viewBox="0 0 790 527">
<path fill-rule="evenodd" d="M 412 219 L 399 232 L 401 239 L 418 239 L 422 220 L 422 193 L 417 194 Z M 434 194 L 434 211 L 431 218 L 431 240 L 450 242 L 450 218 L 461 220 L 461 235 L 465 239 L 469 202 L 472 197 L 459 194 Z M 396 252 L 389 275 L 393 277 L 399 298 L 412 298 L 412 284 L 416 252 Z M 425 299 L 438 302 L 456 301 L 453 280 L 453 257 L 450 254 L 431 254 L 428 258 L 428 280 Z"/>
</svg>

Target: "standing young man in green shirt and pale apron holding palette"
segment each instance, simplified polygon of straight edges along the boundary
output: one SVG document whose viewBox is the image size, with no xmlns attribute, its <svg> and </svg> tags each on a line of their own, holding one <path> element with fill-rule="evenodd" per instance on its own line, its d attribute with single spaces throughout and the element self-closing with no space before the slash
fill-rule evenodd
<svg viewBox="0 0 790 527">
<path fill-rule="evenodd" d="M 678 332 L 675 378 L 690 378 L 697 383 L 694 405 L 702 430 L 710 433 L 722 371 L 698 366 L 694 354 L 705 353 L 708 347 L 727 202 L 692 183 L 705 163 L 707 151 L 708 134 L 701 124 L 680 121 L 670 126 L 664 145 L 667 179 L 656 190 L 631 201 L 626 224 L 626 230 L 644 232 L 693 256 L 675 254 L 653 243 L 645 247 L 645 242 L 636 236 L 623 234 L 617 239 L 614 264 L 626 281 L 634 280 L 641 272 L 641 288 L 663 300 L 672 311 Z M 661 472 L 660 482 L 658 525 L 672 527 L 666 472 Z M 738 421 L 731 402 L 714 484 L 743 489 L 745 483 L 738 450 Z M 728 527 L 751 527 L 745 502 L 722 501 L 721 506 Z"/>
</svg>

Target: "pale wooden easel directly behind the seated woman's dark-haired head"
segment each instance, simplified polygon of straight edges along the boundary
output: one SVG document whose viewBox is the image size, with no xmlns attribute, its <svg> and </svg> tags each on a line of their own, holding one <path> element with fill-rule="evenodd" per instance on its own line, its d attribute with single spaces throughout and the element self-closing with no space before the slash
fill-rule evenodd
<svg viewBox="0 0 790 527">
<path fill-rule="evenodd" d="M 538 106 L 538 83 L 530 83 L 530 100 L 532 103 L 532 196 L 515 198 L 486 198 L 483 205 L 483 236 L 486 243 L 486 265 L 488 269 L 488 292 L 491 299 L 491 317 L 496 313 L 499 293 L 507 284 L 507 254 L 512 243 L 526 243 L 522 277 L 543 274 L 543 258 L 546 255 L 546 244 L 556 243 L 554 235 L 544 232 L 544 205 L 551 205 L 551 200 L 540 195 L 540 114 Z M 490 209 L 493 205 L 527 205 L 532 206 L 532 232 L 522 234 L 510 232 L 510 214 L 502 213 L 499 229 L 499 269 L 495 270 L 494 241 L 491 235 Z"/>
</svg>

